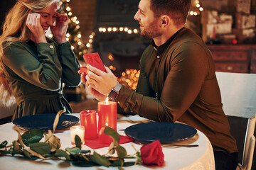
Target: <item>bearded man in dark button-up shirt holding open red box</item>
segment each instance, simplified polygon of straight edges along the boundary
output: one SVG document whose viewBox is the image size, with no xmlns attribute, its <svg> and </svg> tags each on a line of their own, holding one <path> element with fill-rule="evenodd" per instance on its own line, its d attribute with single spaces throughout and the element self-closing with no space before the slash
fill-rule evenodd
<svg viewBox="0 0 256 170">
<path fill-rule="evenodd" d="M 125 112 L 155 121 L 176 120 L 208 137 L 216 169 L 235 169 L 238 149 L 223 113 L 213 58 L 201 38 L 184 27 L 191 0 L 141 0 L 135 20 L 141 35 L 152 38 L 140 60 L 137 91 L 87 65 L 85 83 L 95 98 L 107 96 Z M 86 78 L 86 80 L 85 80 Z"/>
</svg>

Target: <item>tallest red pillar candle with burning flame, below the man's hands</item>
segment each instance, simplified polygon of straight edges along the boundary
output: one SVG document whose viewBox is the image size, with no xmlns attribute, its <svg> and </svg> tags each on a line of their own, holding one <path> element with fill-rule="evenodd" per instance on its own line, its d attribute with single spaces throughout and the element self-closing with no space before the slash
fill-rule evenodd
<svg viewBox="0 0 256 170">
<path fill-rule="evenodd" d="M 117 103 L 114 101 L 101 101 L 98 103 L 97 111 L 99 115 L 98 130 L 107 125 L 117 130 Z"/>
</svg>

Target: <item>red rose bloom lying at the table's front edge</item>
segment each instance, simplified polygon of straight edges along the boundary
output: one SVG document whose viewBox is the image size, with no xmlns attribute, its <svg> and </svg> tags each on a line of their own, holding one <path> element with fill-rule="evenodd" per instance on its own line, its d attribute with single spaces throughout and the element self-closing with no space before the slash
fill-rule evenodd
<svg viewBox="0 0 256 170">
<path fill-rule="evenodd" d="M 140 150 L 143 164 L 157 164 L 158 166 L 164 164 L 164 154 L 159 140 L 142 146 Z"/>
</svg>

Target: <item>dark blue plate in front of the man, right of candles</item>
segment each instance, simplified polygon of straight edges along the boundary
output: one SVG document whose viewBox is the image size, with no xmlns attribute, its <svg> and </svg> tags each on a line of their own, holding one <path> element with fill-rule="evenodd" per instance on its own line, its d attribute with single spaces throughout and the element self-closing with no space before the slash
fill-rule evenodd
<svg viewBox="0 0 256 170">
<path fill-rule="evenodd" d="M 124 132 L 142 143 L 159 140 L 161 144 L 167 144 L 193 137 L 197 130 L 181 123 L 151 122 L 129 126 Z"/>
</svg>

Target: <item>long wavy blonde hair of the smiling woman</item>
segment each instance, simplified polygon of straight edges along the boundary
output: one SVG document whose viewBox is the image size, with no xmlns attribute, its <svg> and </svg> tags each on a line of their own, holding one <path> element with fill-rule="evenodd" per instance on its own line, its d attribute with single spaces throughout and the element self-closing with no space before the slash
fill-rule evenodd
<svg viewBox="0 0 256 170">
<path fill-rule="evenodd" d="M 53 3 L 57 3 L 58 8 L 60 8 L 59 2 L 60 0 L 17 0 L 17 3 L 7 14 L 3 33 L 0 35 L 0 95 L 4 97 L 6 105 L 8 105 L 12 94 L 3 73 L 4 49 L 13 42 L 28 42 L 30 40 L 32 33 L 26 26 L 26 18 L 29 13 L 39 13 L 43 8 Z"/>
</svg>

